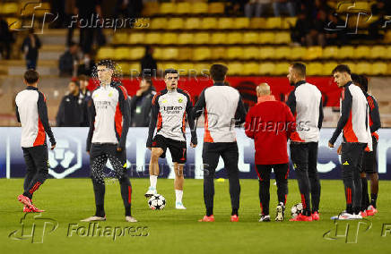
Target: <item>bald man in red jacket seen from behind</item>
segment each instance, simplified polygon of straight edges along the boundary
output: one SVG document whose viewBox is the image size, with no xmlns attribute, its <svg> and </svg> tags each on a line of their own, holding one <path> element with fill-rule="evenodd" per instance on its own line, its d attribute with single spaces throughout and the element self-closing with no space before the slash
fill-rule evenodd
<svg viewBox="0 0 391 254">
<path fill-rule="evenodd" d="M 259 178 L 259 200 L 262 215 L 259 222 L 270 222 L 270 173 L 274 169 L 277 182 L 278 205 L 275 220 L 283 221 L 288 194 L 289 157 L 287 141 L 295 131 L 295 118 L 288 106 L 270 95 L 266 83 L 256 87 L 258 103 L 248 111 L 246 135 L 254 139 L 256 148 L 256 174 Z"/>
</svg>

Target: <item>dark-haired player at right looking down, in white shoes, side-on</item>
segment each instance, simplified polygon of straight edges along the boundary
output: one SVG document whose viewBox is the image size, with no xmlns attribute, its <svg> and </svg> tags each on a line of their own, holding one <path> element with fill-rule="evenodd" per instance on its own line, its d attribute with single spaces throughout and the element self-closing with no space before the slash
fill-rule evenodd
<svg viewBox="0 0 391 254">
<path fill-rule="evenodd" d="M 341 117 L 333 137 L 328 141 L 328 146 L 334 148 L 343 131 L 341 161 L 346 210 L 337 217 L 340 220 L 361 219 L 361 162 L 364 148 L 367 145 L 372 148 L 368 103 L 361 89 L 352 84 L 349 66 L 340 64 L 332 73 L 338 87 L 343 88 Z"/>
</svg>

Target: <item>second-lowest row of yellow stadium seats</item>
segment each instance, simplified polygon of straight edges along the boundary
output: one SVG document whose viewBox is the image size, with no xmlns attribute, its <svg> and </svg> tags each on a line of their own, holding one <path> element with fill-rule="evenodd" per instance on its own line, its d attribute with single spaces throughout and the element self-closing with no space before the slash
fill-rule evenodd
<svg viewBox="0 0 391 254">
<path fill-rule="evenodd" d="M 204 61 L 241 60 L 317 60 L 317 59 L 391 59 L 391 46 L 359 47 L 155 47 L 157 60 Z M 143 47 L 100 47 L 97 58 L 136 60 Z"/>
</svg>

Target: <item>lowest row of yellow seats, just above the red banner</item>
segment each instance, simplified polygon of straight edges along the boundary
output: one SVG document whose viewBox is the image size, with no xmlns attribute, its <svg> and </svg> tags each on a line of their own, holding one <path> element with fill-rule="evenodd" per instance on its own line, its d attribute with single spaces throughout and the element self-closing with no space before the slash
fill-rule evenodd
<svg viewBox="0 0 391 254">
<path fill-rule="evenodd" d="M 209 70 L 211 63 L 159 63 L 159 69 L 175 68 L 180 71 L 180 74 L 201 73 L 203 70 Z M 366 75 L 391 75 L 391 63 L 384 62 L 343 62 L 348 64 L 352 72 Z M 122 72 L 125 75 L 136 74 L 140 72 L 140 63 L 137 62 L 122 62 L 118 63 L 121 66 Z M 229 75 L 273 75 L 282 76 L 288 72 L 291 62 L 227 62 L 224 63 L 229 67 Z M 324 75 L 331 76 L 331 72 L 335 66 L 339 64 L 337 62 L 311 62 L 307 63 L 308 76 Z"/>
</svg>

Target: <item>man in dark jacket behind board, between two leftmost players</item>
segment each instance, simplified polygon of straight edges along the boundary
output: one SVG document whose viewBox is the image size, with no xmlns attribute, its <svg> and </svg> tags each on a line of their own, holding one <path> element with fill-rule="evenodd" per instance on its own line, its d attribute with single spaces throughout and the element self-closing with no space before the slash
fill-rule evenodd
<svg viewBox="0 0 391 254">
<path fill-rule="evenodd" d="M 84 101 L 80 97 L 80 84 L 78 81 L 71 81 L 68 85 L 69 94 L 63 97 L 56 115 L 57 127 L 81 127 L 83 126 Z"/>
</svg>

